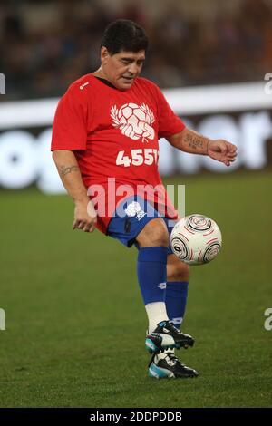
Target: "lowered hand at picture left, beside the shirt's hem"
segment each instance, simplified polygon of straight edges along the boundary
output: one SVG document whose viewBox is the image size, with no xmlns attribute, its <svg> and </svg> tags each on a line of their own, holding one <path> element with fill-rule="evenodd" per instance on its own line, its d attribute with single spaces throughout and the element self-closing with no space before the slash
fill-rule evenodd
<svg viewBox="0 0 272 426">
<path fill-rule="evenodd" d="M 82 229 L 84 232 L 93 232 L 96 222 L 96 211 L 89 198 L 84 201 L 74 202 L 73 229 Z"/>
</svg>

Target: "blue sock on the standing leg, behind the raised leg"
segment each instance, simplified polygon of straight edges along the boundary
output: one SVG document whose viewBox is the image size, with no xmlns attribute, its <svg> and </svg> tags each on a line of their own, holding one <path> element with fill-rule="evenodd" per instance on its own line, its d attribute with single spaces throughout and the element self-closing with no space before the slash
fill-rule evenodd
<svg viewBox="0 0 272 426">
<path fill-rule="evenodd" d="M 188 295 L 188 281 L 168 281 L 166 289 L 166 310 L 170 321 L 180 328 Z"/>
</svg>

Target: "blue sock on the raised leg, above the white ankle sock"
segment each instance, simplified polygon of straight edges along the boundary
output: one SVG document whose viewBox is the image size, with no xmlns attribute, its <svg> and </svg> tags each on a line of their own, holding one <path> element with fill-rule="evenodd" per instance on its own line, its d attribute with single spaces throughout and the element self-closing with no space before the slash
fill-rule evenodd
<svg viewBox="0 0 272 426">
<path fill-rule="evenodd" d="M 137 273 L 144 305 L 165 302 L 167 247 L 141 247 Z"/>
</svg>

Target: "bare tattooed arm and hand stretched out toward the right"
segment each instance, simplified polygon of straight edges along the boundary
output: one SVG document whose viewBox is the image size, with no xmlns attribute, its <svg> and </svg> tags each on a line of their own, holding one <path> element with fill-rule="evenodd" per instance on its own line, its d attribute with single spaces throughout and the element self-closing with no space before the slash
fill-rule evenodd
<svg viewBox="0 0 272 426">
<path fill-rule="evenodd" d="M 211 140 L 188 128 L 170 136 L 167 140 L 178 150 L 191 154 L 208 155 L 211 159 L 218 160 L 226 166 L 230 166 L 237 157 L 237 147 L 227 140 Z"/>
</svg>

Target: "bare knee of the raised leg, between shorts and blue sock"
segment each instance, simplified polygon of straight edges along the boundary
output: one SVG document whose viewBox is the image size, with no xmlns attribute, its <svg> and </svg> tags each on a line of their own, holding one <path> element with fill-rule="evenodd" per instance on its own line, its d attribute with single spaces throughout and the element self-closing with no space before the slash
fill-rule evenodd
<svg viewBox="0 0 272 426">
<path fill-rule="evenodd" d="M 150 220 L 136 237 L 140 247 L 168 247 L 169 232 L 162 218 Z"/>
</svg>

